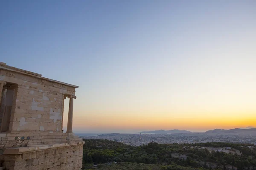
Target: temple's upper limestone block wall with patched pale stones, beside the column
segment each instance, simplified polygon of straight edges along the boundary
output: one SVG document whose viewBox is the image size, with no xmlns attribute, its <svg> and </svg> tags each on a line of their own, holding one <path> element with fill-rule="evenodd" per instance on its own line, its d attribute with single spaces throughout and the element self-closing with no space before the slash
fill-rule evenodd
<svg viewBox="0 0 256 170">
<path fill-rule="evenodd" d="M 64 95 L 75 88 L 1 70 L 0 80 L 17 84 L 9 131 L 61 131 Z"/>
</svg>

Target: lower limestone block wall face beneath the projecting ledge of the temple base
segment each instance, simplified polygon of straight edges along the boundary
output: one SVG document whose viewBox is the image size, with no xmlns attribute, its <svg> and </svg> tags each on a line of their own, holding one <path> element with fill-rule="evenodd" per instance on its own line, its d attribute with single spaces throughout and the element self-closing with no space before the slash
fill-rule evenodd
<svg viewBox="0 0 256 170">
<path fill-rule="evenodd" d="M 5 155 L 7 170 L 81 170 L 83 145 Z"/>
</svg>

